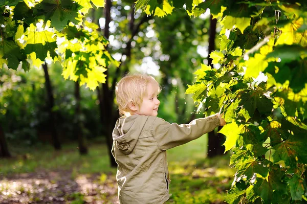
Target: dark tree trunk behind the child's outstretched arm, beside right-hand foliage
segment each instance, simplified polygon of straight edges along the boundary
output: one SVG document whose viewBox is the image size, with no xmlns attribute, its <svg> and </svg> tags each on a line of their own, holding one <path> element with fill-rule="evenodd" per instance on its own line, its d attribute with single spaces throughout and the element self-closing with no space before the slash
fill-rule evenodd
<svg viewBox="0 0 307 204">
<path fill-rule="evenodd" d="M 209 31 L 209 47 L 208 47 L 208 65 L 213 67 L 212 59 L 209 57 L 210 53 L 215 50 L 215 35 L 216 35 L 216 19 L 210 18 L 210 31 Z M 218 127 L 218 130 L 221 126 Z M 224 143 L 224 136 L 221 133 L 215 133 L 214 130 L 208 133 L 208 157 L 224 154 L 225 147 L 222 146 Z"/>
</svg>

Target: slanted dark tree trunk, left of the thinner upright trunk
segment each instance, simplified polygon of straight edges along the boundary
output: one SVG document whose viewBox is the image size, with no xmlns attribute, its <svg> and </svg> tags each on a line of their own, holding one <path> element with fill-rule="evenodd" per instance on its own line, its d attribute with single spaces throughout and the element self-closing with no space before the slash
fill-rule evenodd
<svg viewBox="0 0 307 204">
<path fill-rule="evenodd" d="M 52 135 L 52 143 L 55 149 L 61 149 L 61 144 L 58 138 L 57 128 L 55 124 L 55 112 L 52 110 L 54 106 L 54 98 L 52 92 L 52 86 L 48 74 L 48 67 L 46 62 L 42 64 L 43 71 L 45 72 L 45 85 L 47 89 L 47 97 L 48 97 L 48 112 L 49 112 L 49 128 L 51 130 Z"/>
</svg>

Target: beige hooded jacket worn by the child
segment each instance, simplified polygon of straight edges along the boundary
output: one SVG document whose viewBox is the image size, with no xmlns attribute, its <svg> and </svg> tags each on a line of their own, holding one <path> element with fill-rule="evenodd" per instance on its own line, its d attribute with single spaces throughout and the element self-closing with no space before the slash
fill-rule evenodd
<svg viewBox="0 0 307 204">
<path fill-rule="evenodd" d="M 160 204 L 169 198 L 166 150 L 201 137 L 220 125 L 217 116 L 189 124 L 153 116 L 121 117 L 113 130 L 112 154 L 121 204 Z"/>
</svg>

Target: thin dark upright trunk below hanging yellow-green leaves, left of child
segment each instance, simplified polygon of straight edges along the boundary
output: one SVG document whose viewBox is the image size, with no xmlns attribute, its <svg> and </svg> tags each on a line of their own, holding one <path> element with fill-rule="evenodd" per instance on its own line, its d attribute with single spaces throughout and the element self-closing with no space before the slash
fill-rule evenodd
<svg viewBox="0 0 307 204">
<path fill-rule="evenodd" d="M 84 142 L 84 136 L 83 136 L 83 122 L 81 120 L 81 106 L 80 106 L 80 84 L 79 81 L 76 81 L 75 83 L 75 98 L 76 98 L 76 125 L 75 125 L 75 131 L 78 135 L 78 149 L 80 154 L 87 154 L 87 148 L 85 146 Z"/>
</svg>

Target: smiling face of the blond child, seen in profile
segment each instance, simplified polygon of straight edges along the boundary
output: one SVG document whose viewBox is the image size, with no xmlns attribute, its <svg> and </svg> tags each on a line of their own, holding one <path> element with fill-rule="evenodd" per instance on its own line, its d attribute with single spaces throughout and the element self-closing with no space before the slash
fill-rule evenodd
<svg viewBox="0 0 307 204">
<path fill-rule="evenodd" d="M 155 84 L 147 85 L 147 93 L 143 98 L 141 107 L 135 112 L 137 115 L 157 116 L 160 101 L 158 100 L 158 87 Z"/>
</svg>

